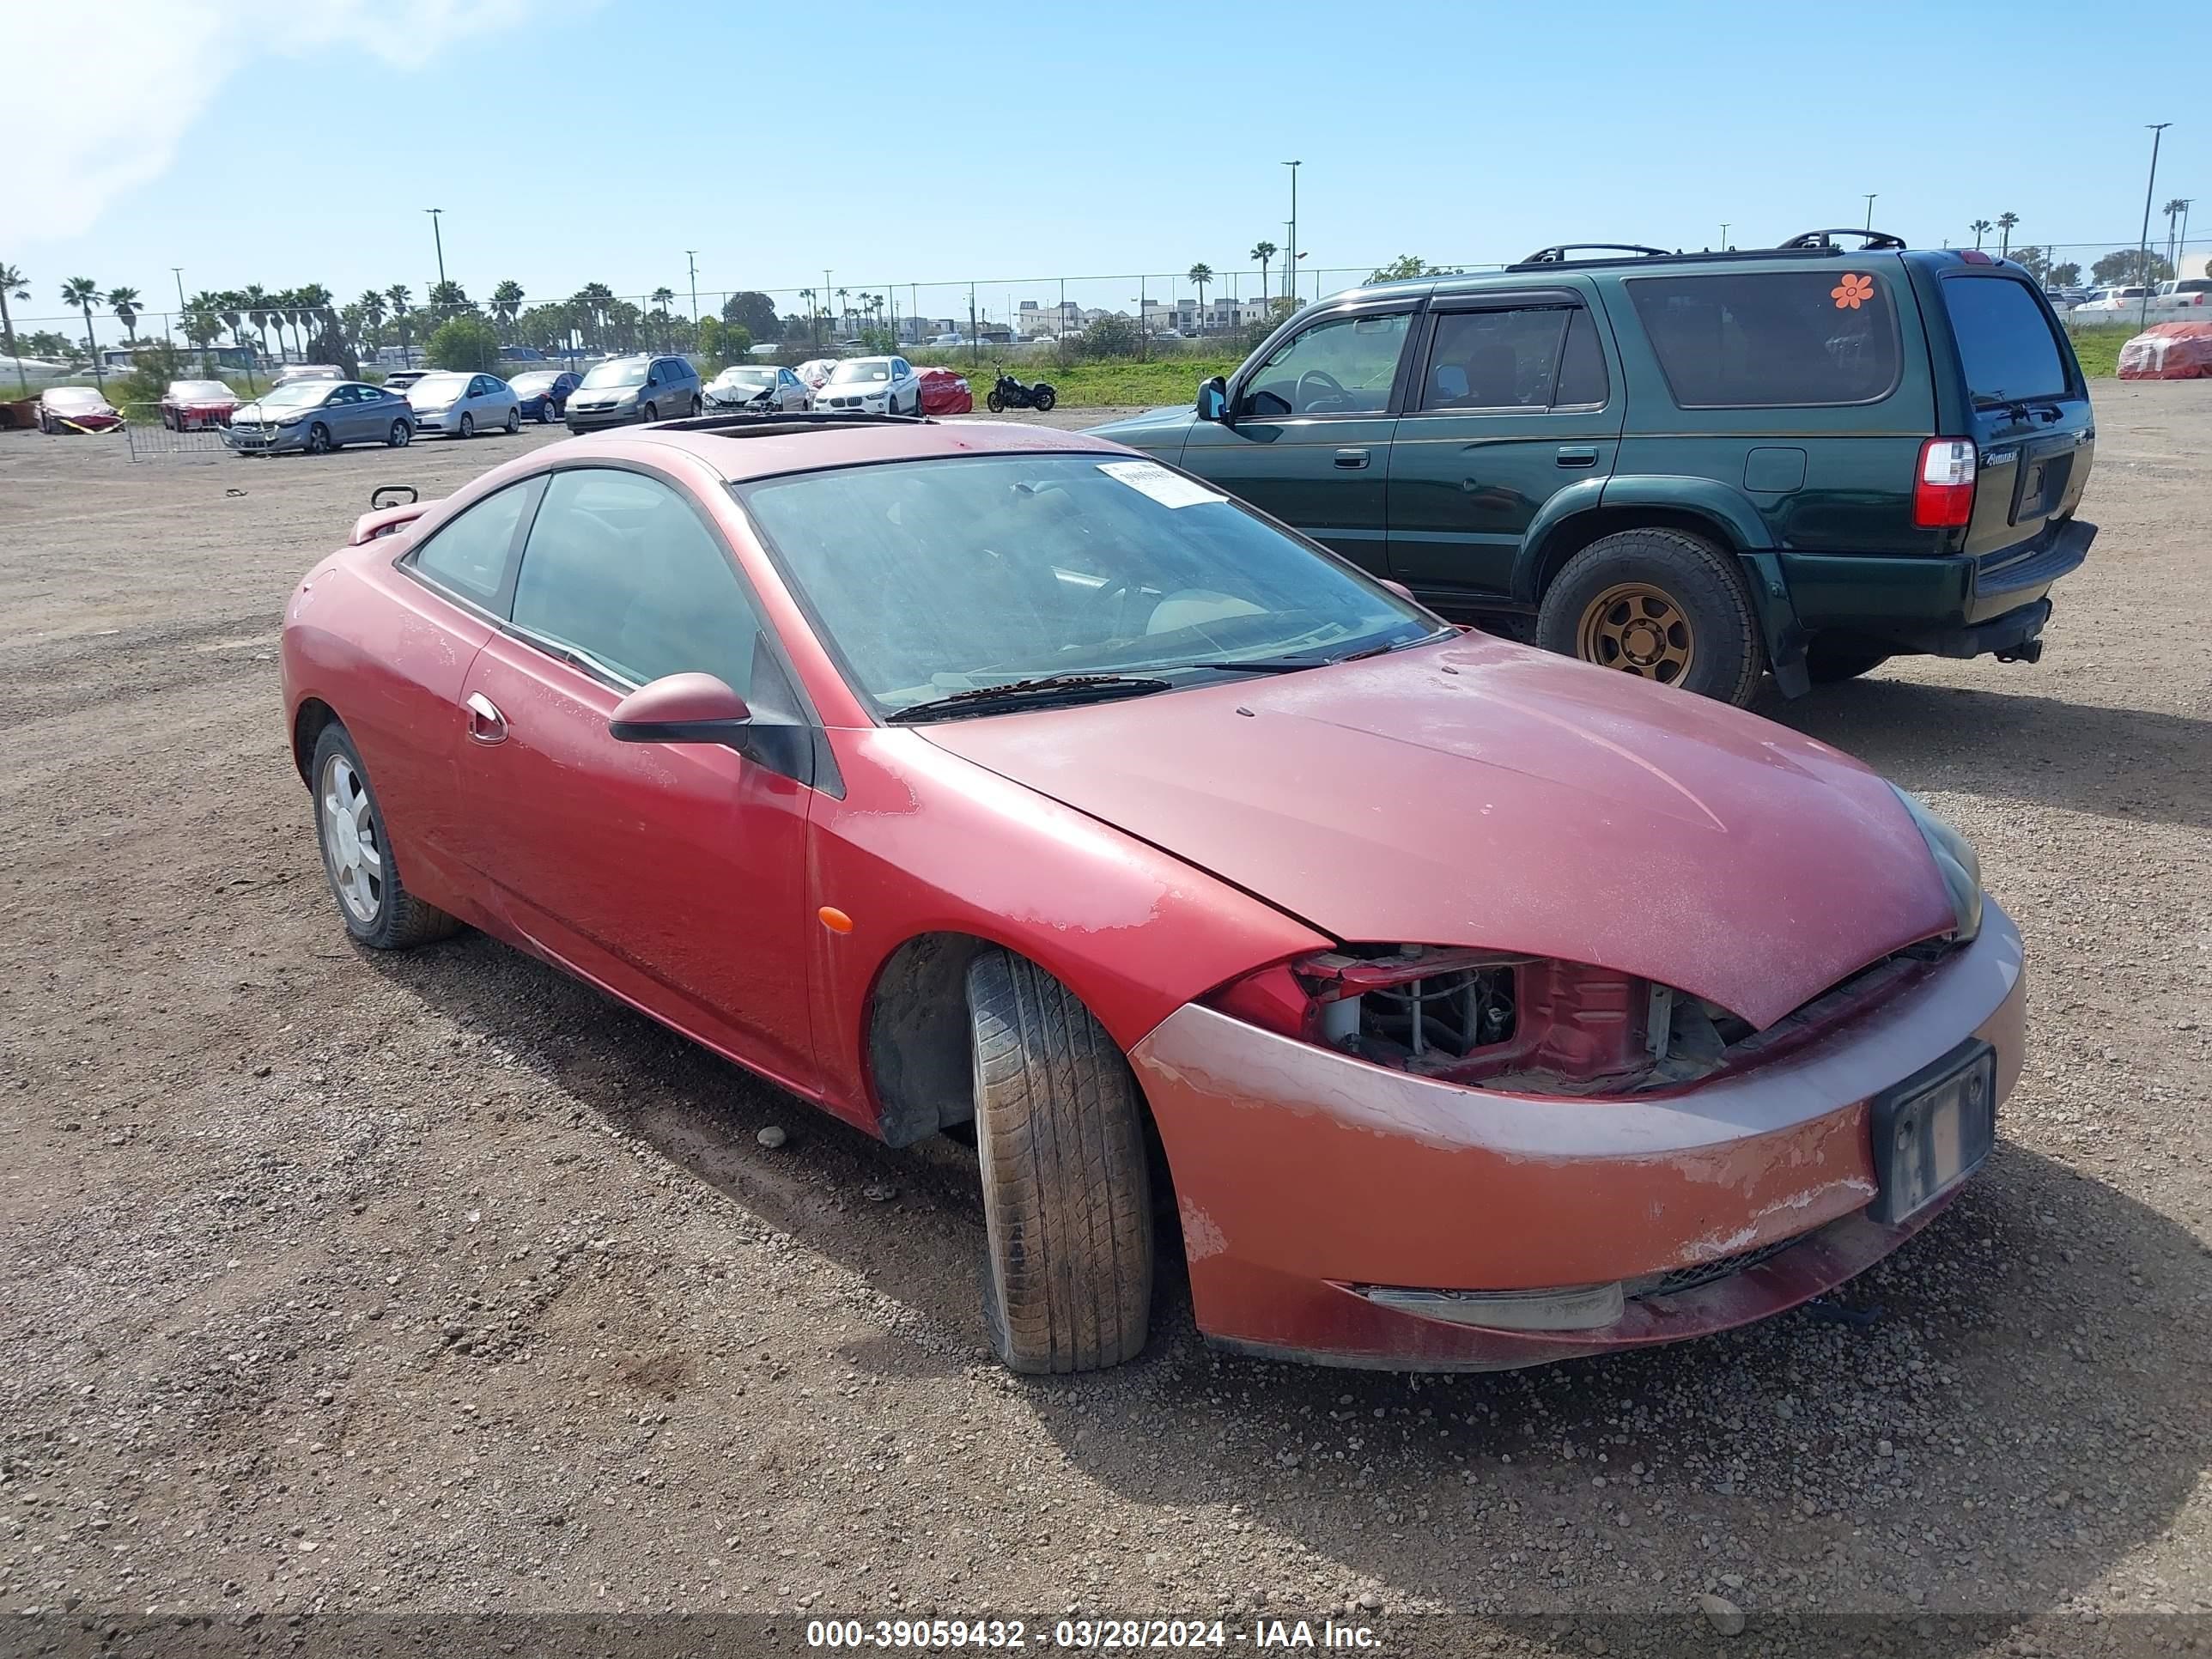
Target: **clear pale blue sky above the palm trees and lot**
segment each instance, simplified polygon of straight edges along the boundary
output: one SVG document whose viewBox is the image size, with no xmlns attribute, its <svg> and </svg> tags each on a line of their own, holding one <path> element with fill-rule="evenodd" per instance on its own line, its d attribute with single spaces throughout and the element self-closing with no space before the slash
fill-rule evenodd
<svg viewBox="0 0 2212 1659">
<path fill-rule="evenodd" d="M 1703 246 L 1874 221 L 1971 241 L 2132 241 L 2148 133 L 2159 199 L 2212 248 L 2212 13 L 2115 49 L 2081 4 L 838 7 L 684 0 L 319 0 L 272 22 L 221 0 L 0 9 L 11 88 L 62 142 L 11 157 L 0 259 L 22 314 L 64 276 L 173 301 L 259 281 L 436 274 L 533 299 L 900 285 L 1250 265 L 1283 243 L 1298 157 L 1307 268 L 1400 252 L 1502 261 L 1562 239 Z M 29 82 L 31 77 L 24 77 Z M 97 84 L 97 95 L 91 86 Z M 24 108 L 29 106 L 29 108 Z M 88 111 L 113 113 L 82 146 Z M 18 173 L 20 168 L 20 173 Z M 2163 237 L 2163 219 L 2154 221 Z M 1327 276 L 1327 285 L 1343 285 Z M 1119 294 L 1130 288 L 1130 294 Z M 1312 279 L 1305 290 L 1312 292 Z M 1088 303 L 1126 303 L 1095 283 Z M 987 281 L 982 303 L 1057 296 Z M 925 312 L 964 290 L 922 290 Z"/>
</svg>

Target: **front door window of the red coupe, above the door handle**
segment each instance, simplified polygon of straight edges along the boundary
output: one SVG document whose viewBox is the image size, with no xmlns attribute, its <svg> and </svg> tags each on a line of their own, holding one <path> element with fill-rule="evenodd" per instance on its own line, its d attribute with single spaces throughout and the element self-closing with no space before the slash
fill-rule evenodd
<svg viewBox="0 0 2212 1659">
<path fill-rule="evenodd" d="M 513 622 L 639 686 L 692 670 L 741 697 L 752 686 L 752 604 L 714 535 L 657 478 L 555 473 L 522 551 Z"/>
</svg>

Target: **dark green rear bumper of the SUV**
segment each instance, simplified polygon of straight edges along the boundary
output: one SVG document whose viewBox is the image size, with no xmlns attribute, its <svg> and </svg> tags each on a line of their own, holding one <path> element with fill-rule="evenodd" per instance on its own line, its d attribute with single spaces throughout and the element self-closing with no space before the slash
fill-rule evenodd
<svg viewBox="0 0 2212 1659">
<path fill-rule="evenodd" d="M 1885 553 L 1774 553 L 1787 606 L 1807 633 L 1840 628 L 1900 653 L 1978 657 L 2042 633 L 2044 595 L 2088 557 L 2097 526 L 2053 524 L 2026 546 L 1982 560 Z"/>
</svg>

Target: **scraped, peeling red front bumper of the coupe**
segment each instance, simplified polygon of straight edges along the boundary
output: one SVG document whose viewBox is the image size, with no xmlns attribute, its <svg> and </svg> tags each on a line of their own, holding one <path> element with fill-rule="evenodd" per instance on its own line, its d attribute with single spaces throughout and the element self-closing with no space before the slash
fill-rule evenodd
<svg viewBox="0 0 2212 1659">
<path fill-rule="evenodd" d="M 2020 933 L 1980 938 L 1772 1062 L 1624 1099 L 1374 1066 L 1186 1004 L 1130 1051 L 1175 1175 L 1199 1329 L 1387 1369 L 1670 1343 L 1851 1279 L 1898 1225 L 1869 1106 L 1973 1040 L 2020 1075 Z M 1486 1321 L 1486 1323 L 1484 1323 Z"/>
</svg>

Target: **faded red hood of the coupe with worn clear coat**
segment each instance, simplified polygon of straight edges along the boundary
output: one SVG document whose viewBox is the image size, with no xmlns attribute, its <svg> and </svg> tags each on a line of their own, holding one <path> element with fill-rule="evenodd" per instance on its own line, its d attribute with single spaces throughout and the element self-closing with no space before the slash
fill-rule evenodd
<svg viewBox="0 0 2212 1659">
<path fill-rule="evenodd" d="M 1588 962 L 1761 1029 L 1953 927 L 1858 761 L 1484 635 L 914 730 L 1340 940 Z"/>
</svg>

